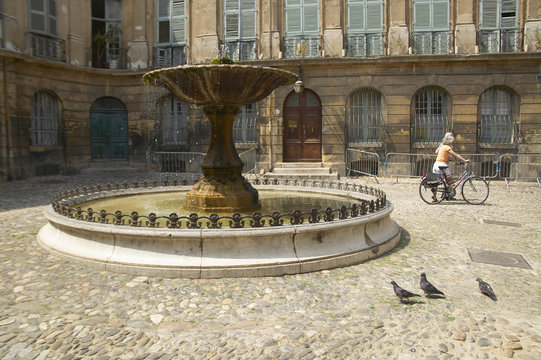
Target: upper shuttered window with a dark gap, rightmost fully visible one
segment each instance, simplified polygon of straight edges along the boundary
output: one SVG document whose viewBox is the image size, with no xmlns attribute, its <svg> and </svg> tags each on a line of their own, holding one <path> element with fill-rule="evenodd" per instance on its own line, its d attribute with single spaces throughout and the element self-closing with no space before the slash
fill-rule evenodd
<svg viewBox="0 0 541 360">
<path fill-rule="evenodd" d="M 481 0 L 479 50 L 518 51 L 518 0 Z"/>
</svg>

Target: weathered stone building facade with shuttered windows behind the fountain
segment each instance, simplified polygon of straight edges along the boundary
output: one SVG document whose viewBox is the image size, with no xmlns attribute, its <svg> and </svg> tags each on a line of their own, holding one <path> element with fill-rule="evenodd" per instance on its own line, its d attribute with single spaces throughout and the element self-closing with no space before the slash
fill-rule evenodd
<svg viewBox="0 0 541 360">
<path fill-rule="evenodd" d="M 239 114 L 260 171 L 346 149 L 541 153 L 537 0 L 0 0 L 0 179 L 205 151 L 202 113 L 142 85 L 154 68 L 238 63 L 298 73 Z"/>
</svg>

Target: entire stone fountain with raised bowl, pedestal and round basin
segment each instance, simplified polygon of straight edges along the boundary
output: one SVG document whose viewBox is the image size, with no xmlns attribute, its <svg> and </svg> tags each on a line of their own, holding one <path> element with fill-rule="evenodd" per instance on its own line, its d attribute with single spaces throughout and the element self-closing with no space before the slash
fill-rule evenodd
<svg viewBox="0 0 541 360">
<path fill-rule="evenodd" d="M 202 179 L 193 186 L 176 181 L 100 184 L 59 193 L 45 210 L 48 223 L 38 242 L 100 270 L 187 278 L 297 274 L 357 264 L 390 251 L 400 240 L 400 228 L 382 191 L 302 178 L 250 183 L 242 176 L 232 136 L 236 115 L 296 78 L 244 65 L 147 73 L 144 83 L 167 88 L 201 107 L 209 119 L 212 135 Z M 268 210 L 273 197 L 284 200 L 283 210 Z M 170 199 L 173 205 L 151 204 L 150 213 L 143 213 L 147 210 L 135 210 L 148 204 L 143 198 Z M 297 199 L 308 205 L 296 208 Z M 108 207 L 109 201 L 115 205 Z M 120 210 L 130 201 L 134 207 Z"/>
</svg>

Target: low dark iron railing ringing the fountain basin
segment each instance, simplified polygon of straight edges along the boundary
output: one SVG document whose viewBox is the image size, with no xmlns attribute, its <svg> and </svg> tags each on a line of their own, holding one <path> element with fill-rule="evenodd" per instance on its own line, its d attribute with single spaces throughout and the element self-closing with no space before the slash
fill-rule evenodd
<svg viewBox="0 0 541 360">
<path fill-rule="evenodd" d="M 277 185 L 277 186 L 302 186 L 307 188 L 323 188 L 336 189 L 343 191 L 358 192 L 373 196 L 372 200 L 359 200 L 359 203 L 354 203 L 350 207 L 345 205 L 338 209 L 330 207 L 324 210 L 311 209 L 303 212 L 294 210 L 291 213 L 273 212 L 272 214 L 262 214 L 254 212 L 251 215 L 241 215 L 235 213 L 233 215 L 220 216 L 218 214 L 198 215 L 195 213 L 189 215 L 178 215 L 171 213 L 169 215 L 157 215 L 150 213 L 141 215 L 136 211 L 123 213 L 121 211 L 108 212 L 106 210 L 95 211 L 92 208 L 83 209 L 76 205 L 77 198 L 99 193 L 120 191 L 128 189 L 144 189 L 157 187 L 178 187 L 180 185 L 190 185 L 187 180 L 179 181 L 150 181 L 150 182 L 135 182 L 116 183 L 106 185 L 87 186 L 61 192 L 56 194 L 51 205 L 54 211 L 68 218 L 81 220 L 90 223 L 124 225 L 132 227 L 149 227 L 149 228 L 169 228 L 169 229 L 220 229 L 223 227 L 230 228 L 261 228 L 261 227 L 277 227 L 284 225 L 300 225 L 303 223 L 320 223 L 331 222 L 335 220 L 344 220 L 347 218 L 356 218 L 367 214 L 375 213 L 385 209 L 387 203 L 386 195 L 383 191 L 359 184 L 327 181 L 327 180 L 306 180 L 306 179 L 269 179 L 255 178 L 251 181 L 253 185 Z"/>
</svg>

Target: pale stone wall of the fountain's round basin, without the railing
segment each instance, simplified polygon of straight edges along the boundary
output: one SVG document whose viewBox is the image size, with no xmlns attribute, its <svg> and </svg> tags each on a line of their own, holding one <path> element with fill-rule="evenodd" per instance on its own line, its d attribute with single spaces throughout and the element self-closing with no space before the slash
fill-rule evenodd
<svg viewBox="0 0 541 360">
<path fill-rule="evenodd" d="M 380 204 L 380 195 L 365 192 L 287 185 L 255 185 L 260 191 L 336 194 Z M 348 188 L 346 186 L 346 188 Z M 187 190 L 189 187 L 179 187 Z M 159 192 L 163 188 L 127 189 L 78 196 L 117 196 L 126 192 Z M 378 198 L 379 197 L 379 198 Z M 134 275 L 221 278 L 278 276 L 347 266 L 382 255 L 399 242 L 391 219 L 393 206 L 359 216 L 310 223 L 245 228 L 157 228 L 90 222 L 45 211 L 48 224 L 38 241 L 49 251 L 100 270 Z M 375 206 L 376 208 L 379 205 Z"/>
</svg>

